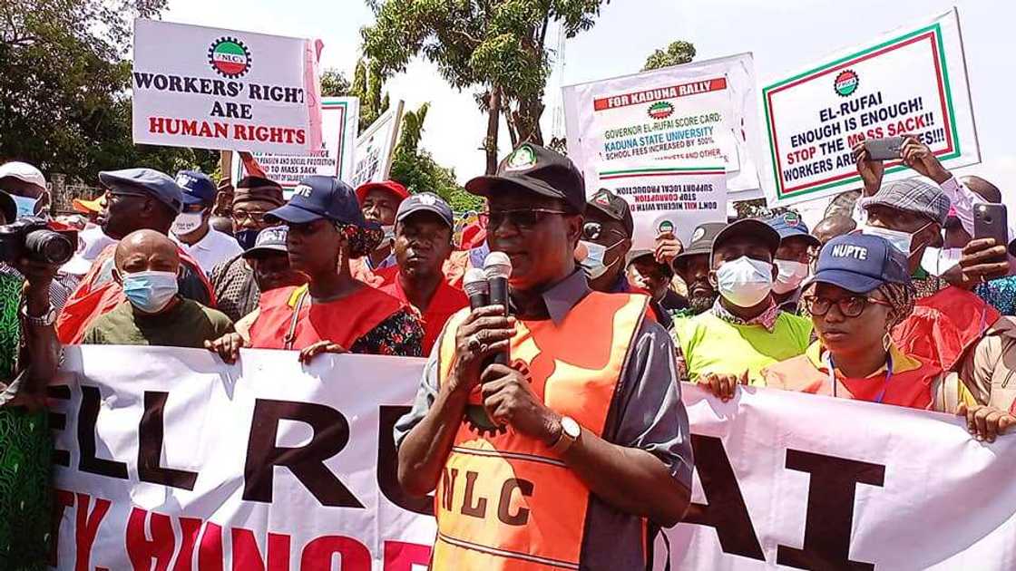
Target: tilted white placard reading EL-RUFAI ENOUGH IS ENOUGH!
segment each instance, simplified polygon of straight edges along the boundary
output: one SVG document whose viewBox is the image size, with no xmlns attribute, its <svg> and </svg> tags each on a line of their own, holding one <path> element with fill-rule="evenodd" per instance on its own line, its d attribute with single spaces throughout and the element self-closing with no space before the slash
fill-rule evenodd
<svg viewBox="0 0 1016 571">
<path fill-rule="evenodd" d="M 833 54 L 762 89 L 770 204 L 861 187 L 850 149 L 913 134 L 947 169 L 980 161 L 955 10 Z M 885 180 L 914 176 L 886 162 Z"/>
</svg>

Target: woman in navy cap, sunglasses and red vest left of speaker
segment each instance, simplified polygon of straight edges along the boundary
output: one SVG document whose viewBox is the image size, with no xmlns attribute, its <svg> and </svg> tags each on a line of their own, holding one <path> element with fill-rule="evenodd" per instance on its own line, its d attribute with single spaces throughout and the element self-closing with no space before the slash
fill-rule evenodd
<svg viewBox="0 0 1016 571">
<path fill-rule="evenodd" d="M 290 266 L 309 281 L 261 294 L 249 343 L 231 333 L 208 348 L 227 362 L 236 360 L 241 346 L 298 350 L 305 363 L 322 353 L 422 355 L 424 329 L 411 309 L 350 271 L 350 258 L 381 239 L 364 219 L 353 189 L 330 177 L 308 177 L 265 219 L 289 226 Z"/>
</svg>

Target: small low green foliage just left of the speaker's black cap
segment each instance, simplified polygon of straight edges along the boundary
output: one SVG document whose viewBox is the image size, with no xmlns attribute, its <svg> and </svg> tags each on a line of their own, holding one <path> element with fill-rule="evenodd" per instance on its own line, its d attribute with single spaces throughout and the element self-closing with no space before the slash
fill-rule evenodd
<svg viewBox="0 0 1016 571">
<path fill-rule="evenodd" d="M 428 109 L 430 105 L 424 104 L 415 112 L 402 114 L 398 143 L 392 155 L 391 179 L 405 185 L 409 192 L 433 192 L 441 196 L 456 212 L 475 210 L 483 205 L 483 199 L 458 185 L 454 170 L 438 165 L 430 152 L 420 148 Z"/>
</svg>

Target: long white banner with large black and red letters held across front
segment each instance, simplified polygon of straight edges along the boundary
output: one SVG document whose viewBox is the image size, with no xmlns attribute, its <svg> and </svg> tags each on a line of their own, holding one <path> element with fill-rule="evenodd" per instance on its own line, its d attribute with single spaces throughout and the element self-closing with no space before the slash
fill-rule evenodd
<svg viewBox="0 0 1016 571">
<path fill-rule="evenodd" d="M 431 502 L 396 481 L 392 426 L 424 362 L 72 346 L 55 386 L 60 569 L 419 571 Z M 124 367 L 130 363 L 131 367 Z M 693 505 L 676 569 L 1016 568 L 1016 436 L 958 419 L 686 385 Z M 655 567 L 662 568 L 662 540 Z M 418 567 L 414 567 L 414 565 Z"/>
</svg>

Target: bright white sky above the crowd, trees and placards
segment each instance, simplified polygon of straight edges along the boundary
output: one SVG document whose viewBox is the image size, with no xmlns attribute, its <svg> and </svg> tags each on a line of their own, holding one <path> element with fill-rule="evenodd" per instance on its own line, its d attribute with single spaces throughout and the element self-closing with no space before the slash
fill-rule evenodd
<svg viewBox="0 0 1016 571">
<path fill-rule="evenodd" d="M 1009 105 L 1016 88 L 1011 60 L 1016 53 L 1016 2 L 1004 0 L 614 0 L 602 8 L 592 29 L 566 42 L 563 66 L 555 65 L 548 83 L 544 133 L 553 132 L 562 85 L 637 72 L 653 50 L 673 41 L 693 43 L 698 60 L 752 52 L 759 84 L 765 84 L 954 5 L 959 9 L 982 158 L 982 165 L 964 172 L 981 174 L 1004 187 L 1004 182 L 1016 181 Z M 351 78 L 360 55 L 360 29 L 373 21 L 362 0 L 170 0 L 163 17 L 318 38 L 325 44 L 323 67 L 337 68 Z M 419 59 L 386 85 L 392 100 L 404 100 L 406 109 L 431 104 L 422 144 L 440 164 L 454 168 L 460 182 L 482 174 L 486 119 L 470 91 L 452 89 L 433 65 Z M 504 154 L 510 150 L 504 127 L 502 134 Z"/>
</svg>

